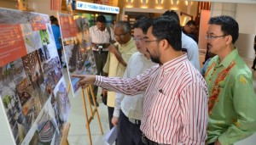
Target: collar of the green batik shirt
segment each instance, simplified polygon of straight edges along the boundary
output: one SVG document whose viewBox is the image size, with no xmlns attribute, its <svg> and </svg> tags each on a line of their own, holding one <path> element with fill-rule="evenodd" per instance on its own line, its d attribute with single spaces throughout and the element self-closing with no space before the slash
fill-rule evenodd
<svg viewBox="0 0 256 145">
<path fill-rule="evenodd" d="M 217 56 L 218 59 L 215 59 L 215 64 L 217 67 L 223 65 L 225 68 L 228 68 L 233 59 L 235 59 L 237 55 L 238 51 L 237 48 L 235 48 L 228 56 L 226 56 L 226 58 L 224 58 L 224 60 L 220 64 L 218 64 L 219 57 Z"/>
</svg>

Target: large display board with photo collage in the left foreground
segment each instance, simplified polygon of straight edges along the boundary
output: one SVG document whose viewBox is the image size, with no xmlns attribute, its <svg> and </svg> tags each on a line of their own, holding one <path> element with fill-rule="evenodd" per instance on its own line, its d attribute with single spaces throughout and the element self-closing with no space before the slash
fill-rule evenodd
<svg viewBox="0 0 256 145">
<path fill-rule="evenodd" d="M 70 112 L 49 16 L 0 8 L 0 106 L 14 144 L 60 144 Z"/>
</svg>

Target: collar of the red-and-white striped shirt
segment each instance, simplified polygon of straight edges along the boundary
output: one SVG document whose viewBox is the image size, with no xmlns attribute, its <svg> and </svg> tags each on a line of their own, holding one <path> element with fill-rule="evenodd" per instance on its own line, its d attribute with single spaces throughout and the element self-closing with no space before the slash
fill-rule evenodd
<svg viewBox="0 0 256 145">
<path fill-rule="evenodd" d="M 165 64 L 160 65 L 160 68 L 165 70 L 166 72 L 172 70 L 173 68 L 181 65 L 185 60 L 187 60 L 187 53 L 184 53 L 182 56 L 176 58 L 176 59 L 172 59 L 168 62 L 166 62 Z"/>
</svg>

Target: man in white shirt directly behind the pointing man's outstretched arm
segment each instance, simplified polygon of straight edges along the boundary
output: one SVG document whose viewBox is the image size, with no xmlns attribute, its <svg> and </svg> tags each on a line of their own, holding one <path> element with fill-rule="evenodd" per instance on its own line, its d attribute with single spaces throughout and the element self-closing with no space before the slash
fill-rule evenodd
<svg viewBox="0 0 256 145">
<path fill-rule="evenodd" d="M 137 45 L 137 53 L 132 54 L 129 59 L 124 78 L 132 78 L 143 74 L 145 70 L 154 64 L 150 60 L 144 37 L 152 20 L 146 18 L 137 20 L 134 26 L 134 41 Z M 142 131 L 140 130 L 141 119 L 143 117 L 144 93 L 132 96 L 117 93 L 113 111 L 112 123 L 118 125 L 117 145 L 141 145 Z"/>
</svg>

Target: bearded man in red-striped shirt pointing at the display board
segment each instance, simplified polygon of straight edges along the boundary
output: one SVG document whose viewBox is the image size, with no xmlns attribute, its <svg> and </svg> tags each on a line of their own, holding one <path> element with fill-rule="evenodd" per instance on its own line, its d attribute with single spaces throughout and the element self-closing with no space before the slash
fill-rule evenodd
<svg viewBox="0 0 256 145">
<path fill-rule="evenodd" d="M 79 85 L 94 83 L 114 92 L 145 92 L 140 129 L 144 144 L 205 144 L 207 139 L 207 84 L 181 52 L 181 27 L 161 16 L 146 36 L 150 58 L 160 65 L 135 78 L 73 75 Z"/>
</svg>

